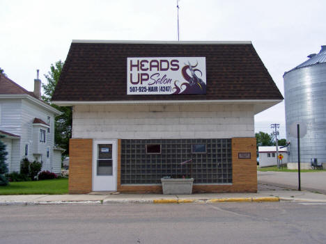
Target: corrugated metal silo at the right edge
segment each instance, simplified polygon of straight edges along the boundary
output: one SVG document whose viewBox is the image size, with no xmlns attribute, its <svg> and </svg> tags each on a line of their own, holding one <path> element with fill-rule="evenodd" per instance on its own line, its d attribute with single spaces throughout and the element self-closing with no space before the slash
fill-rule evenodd
<svg viewBox="0 0 326 244">
<path fill-rule="evenodd" d="M 306 136 L 300 139 L 301 162 L 317 158 L 318 163 L 326 163 L 326 46 L 308 58 L 284 74 L 288 162 L 297 162 L 297 138 L 290 136 L 290 125 L 305 122 Z"/>
</svg>

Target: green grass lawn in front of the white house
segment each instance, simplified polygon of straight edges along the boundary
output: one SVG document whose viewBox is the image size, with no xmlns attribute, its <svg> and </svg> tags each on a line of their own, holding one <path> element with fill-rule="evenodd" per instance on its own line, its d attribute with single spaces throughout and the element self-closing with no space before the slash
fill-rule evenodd
<svg viewBox="0 0 326 244">
<path fill-rule="evenodd" d="M 68 194 L 68 178 L 10 182 L 8 186 L 0 186 L 0 195 L 29 194 Z"/>
</svg>

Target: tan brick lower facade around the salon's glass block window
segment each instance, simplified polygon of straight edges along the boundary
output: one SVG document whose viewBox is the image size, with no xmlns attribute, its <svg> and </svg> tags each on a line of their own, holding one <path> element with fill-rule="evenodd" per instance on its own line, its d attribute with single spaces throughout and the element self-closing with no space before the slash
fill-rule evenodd
<svg viewBox="0 0 326 244">
<path fill-rule="evenodd" d="M 238 153 L 249 152 L 250 159 L 239 159 Z M 92 139 L 70 139 L 69 193 L 92 191 Z M 162 193 L 160 185 L 121 185 L 121 140 L 118 140 L 117 190 L 133 193 Z M 193 192 L 257 192 L 256 138 L 232 138 L 233 184 L 194 185 Z"/>
</svg>

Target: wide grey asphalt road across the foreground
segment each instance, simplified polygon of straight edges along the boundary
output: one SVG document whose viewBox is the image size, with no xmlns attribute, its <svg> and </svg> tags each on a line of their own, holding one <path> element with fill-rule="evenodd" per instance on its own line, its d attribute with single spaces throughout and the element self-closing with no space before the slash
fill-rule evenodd
<svg viewBox="0 0 326 244">
<path fill-rule="evenodd" d="M 0 206 L 0 243 L 325 243 L 326 203 Z"/>
</svg>

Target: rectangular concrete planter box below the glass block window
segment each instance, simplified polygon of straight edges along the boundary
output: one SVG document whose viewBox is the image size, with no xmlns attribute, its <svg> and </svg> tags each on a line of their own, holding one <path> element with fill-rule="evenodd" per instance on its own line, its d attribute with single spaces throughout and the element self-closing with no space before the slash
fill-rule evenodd
<svg viewBox="0 0 326 244">
<path fill-rule="evenodd" d="M 161 179 L 163 194 L 192 194 L 194 178 L 190 179 Z"/>
</svg>

